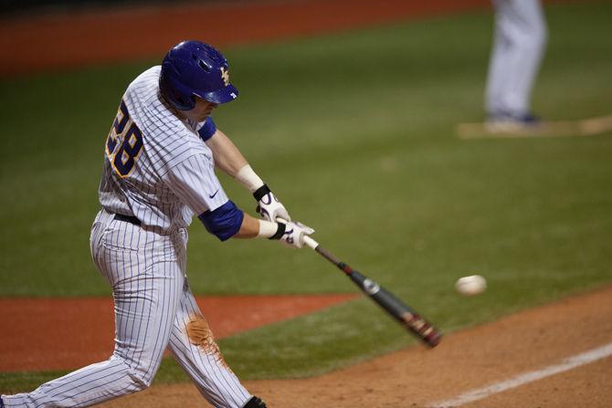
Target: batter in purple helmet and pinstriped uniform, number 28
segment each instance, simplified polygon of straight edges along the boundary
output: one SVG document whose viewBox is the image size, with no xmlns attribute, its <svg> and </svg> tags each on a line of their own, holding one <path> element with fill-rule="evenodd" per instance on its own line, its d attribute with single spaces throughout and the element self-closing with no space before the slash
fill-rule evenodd
<svg viewBox="0 0 612 408">
<path fill-rule="evenodd" d="M 172 47 L 162 66 L 132 81 L 105 141 L 101 210 L 90 236 L 93 261 L 112 288 L 114 351 L 108 361 L 34 392 L 3 395 L 0 407 L 81 407 L 141 391 L 166 349 L 213 406 L 266 406 L 227 367 L 185 271 L 186 228 L 194 215 L 221 241 L 259 237 L 300 248 L 314 232 L 290 220 L 216 128 L 212 111 L 237 95 L 227 59 L 198 41 Z M 261 219 L 228 199 L 215 168 L 254 195 Z"/>
</svg>

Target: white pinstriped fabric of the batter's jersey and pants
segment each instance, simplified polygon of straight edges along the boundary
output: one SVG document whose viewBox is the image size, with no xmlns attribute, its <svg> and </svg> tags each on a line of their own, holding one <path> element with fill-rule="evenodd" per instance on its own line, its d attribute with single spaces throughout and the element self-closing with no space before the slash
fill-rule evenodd
<svg viewBox="0 0 612 408">
<path fill-rule="evenodd" d="M 214 406 L 242 407 L 251 397 L 212 338 L 204 347 L 187 335 L 190 322 L 204 317 L 186 280 L 185 227 L 194 214 L 225 204 L 227 195 L 212 153 L 196 133 L 201 124 L 178 120 L 159 99 L 159 72 L 145 71 L 123 96 L 142 131 L 143 148 L 126 177 L 113 170 L 106 153 L 102 209 L 91 228 L 91 256 L 114 298 L 111 358 L 34 392 L 3 396 L 6 407 L 83 407 L 143 390 L 166 348 Z M 133 214 L 142 225 L 115 220 L 114 214 Z"/>
</svg>

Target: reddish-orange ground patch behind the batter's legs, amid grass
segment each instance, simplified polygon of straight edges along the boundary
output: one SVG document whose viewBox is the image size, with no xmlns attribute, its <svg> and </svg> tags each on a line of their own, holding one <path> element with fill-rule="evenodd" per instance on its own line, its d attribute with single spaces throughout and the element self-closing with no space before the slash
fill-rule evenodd
<svg viewBox="0 0 612 408">
<path fill-rule="evenodd" d="M 216 339 L 330 307 L 355 294 L 196 298 Z M 109 358 L 111 298 L 0 298 L 0 372 L 70 370 Z"/>
</svg>

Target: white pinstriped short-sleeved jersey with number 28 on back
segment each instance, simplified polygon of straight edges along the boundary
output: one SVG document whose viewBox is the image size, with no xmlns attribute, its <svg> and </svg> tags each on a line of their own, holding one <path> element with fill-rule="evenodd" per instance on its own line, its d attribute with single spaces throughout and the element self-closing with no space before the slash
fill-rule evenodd
<svg viewBox="0 0 612 408">
<path fill-rule="evenodd" d="M 125 91 L 107 138 L 99 194 L 107 211 L 171 232 L 225 204 L 227 194 L 197 132 L 204 122 L 174 115 L 159 93 L 160 72 L 160 66 L 147 69 Z"/>
</svg>

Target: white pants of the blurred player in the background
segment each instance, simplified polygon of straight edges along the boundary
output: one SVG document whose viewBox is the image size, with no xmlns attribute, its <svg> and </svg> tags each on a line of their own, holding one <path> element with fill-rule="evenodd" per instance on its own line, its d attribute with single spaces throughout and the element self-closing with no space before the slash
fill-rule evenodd
<svg viewBox="0 0 612 408">
<path fill-rule="evenodd" d="M 495 34 L 486 89 L 489 120 L 532 123 L 530 98 L 546 44 L 539 0 L 493 0 Z"/>
</svg>

